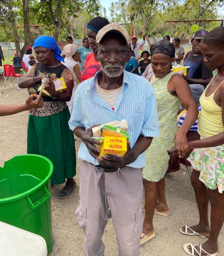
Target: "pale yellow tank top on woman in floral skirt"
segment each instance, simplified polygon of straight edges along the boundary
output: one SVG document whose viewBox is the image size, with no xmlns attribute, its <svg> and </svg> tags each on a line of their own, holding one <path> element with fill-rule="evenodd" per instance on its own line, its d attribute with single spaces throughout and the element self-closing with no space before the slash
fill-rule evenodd
<svg viewBox="0 0 224 256">
<path fill-rule="evenodd" d="M 222 81 L 221 84 L 223 82 L 224 81 Z M 219 89 L 221 84 L 217 89 Z M 205 92 L 208 86 L 200 97 L 201 113 L 198 119 L 198 133 L 203 138 L 211 137 L 215 134 L 223 132 L 222 108 L 219 107 L 214 100 L 214 95 L 217 89 L 214 91 L 214 93 L 207 97 L 205 96 Z"/>
</svg>

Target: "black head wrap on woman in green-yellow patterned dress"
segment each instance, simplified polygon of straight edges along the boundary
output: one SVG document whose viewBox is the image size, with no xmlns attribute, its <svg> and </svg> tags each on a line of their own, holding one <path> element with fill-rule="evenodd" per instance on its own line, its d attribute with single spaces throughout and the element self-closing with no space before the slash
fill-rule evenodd
<svg viewBox="0 0 224 256">
<path fill-rule="evenodd" d="M 160 40 L 150 48 L 151 56 L 155 53 L 163 53 L 168 55 L 170 58 L 175 57 L 175 47 L 169 41 Z"/>
</svg>

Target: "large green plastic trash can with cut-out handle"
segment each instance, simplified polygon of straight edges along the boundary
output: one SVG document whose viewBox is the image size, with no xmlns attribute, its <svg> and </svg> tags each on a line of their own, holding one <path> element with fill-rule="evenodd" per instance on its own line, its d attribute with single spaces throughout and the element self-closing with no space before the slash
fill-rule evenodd
<svg viewBox="0 0 224 256">
<path fill-rule="evenodd" d="M 52 162 L 34 154 L 18 155 L 0 167 L 0 221 L 43 237 L 52 250 Z"/>
</svg>

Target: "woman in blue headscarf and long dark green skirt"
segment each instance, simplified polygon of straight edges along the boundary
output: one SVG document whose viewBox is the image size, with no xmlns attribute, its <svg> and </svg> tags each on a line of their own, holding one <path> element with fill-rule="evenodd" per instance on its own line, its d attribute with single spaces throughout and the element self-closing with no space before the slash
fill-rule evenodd
<svg viewBox="0 0 224 256">
<path fill-rule="evenodd" d="M 39 94 L 42 80 L 49 79 L 44 83 L 44 106 L 29 111 L 27 153 L 46 156 L 53 162 L 51 184 L 62 184 L 67 179 L 58 195 L 59 198 L 65 198 L 76 185 L 73 180 L 76 174 L 75 142 L 68 126 L 70 113 L 66 104 L 72 96 L 74 77 L 61 64 L 61 50 L 53 37 L 38 37 L 33 49 L 39 63 L 21 77 L 19 87 L 28 88 L 30 94 Z M 67 88 L 60 93 L 55 90 L 54 80 L 61 77 Z"/>
</svg>

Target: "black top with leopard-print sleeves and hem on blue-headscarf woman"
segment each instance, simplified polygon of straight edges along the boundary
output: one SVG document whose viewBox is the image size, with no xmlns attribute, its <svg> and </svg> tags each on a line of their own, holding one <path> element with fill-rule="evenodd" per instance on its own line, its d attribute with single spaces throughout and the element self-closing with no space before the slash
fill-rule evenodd
<svg viewBox="0 0 224 256">
<path fill-rule="evenodd" d="M 38 63 L 36 66 L 33 66 L 32 68 L 30 68 L 30 70 L 28 72 L 32 77 L 40 74 L 40 71 L 39 71 L 40 69 L 38 68 L 40 65 L 41 64 Z M 41 67 L 41 69 L 43 69 L 43 65 L 41 65 L 40 67 Z M 44 74 L 45 73 L 46 72 L 44 72 Z M 63 77 L 65 80 L 65 83 L 74 79 L 72 72 L 62 64 L 59 64 L 58 66 L 54 66 L 51 68 L 47 68 L 47 73 L 52 74 L 56 77 Z M 61 75 L 59 73 L 61 73 Z M 30 94 L 32 94 L 32 93 L 39 94 L 37 89 L 40 87 L 40 84 L 41 84 L 41 82 L 39 84 L 35 84 L 34 86 L 28 88 L 28 92 Z M 67 107 L 66 102 L 62 102 L 59 100 L 53 100 L 51 97 L 49 97 L 47 95 L 43 94 L 42 98 L 44 100 L 43 107 L 41 109 L 39 108 L 39 109 L 29 110 L 30 115 L 39 116 L 39 117 L 51 116 L 51 115 L 57 114 L 57 113 L 65 110 Z"/>
</svg>

